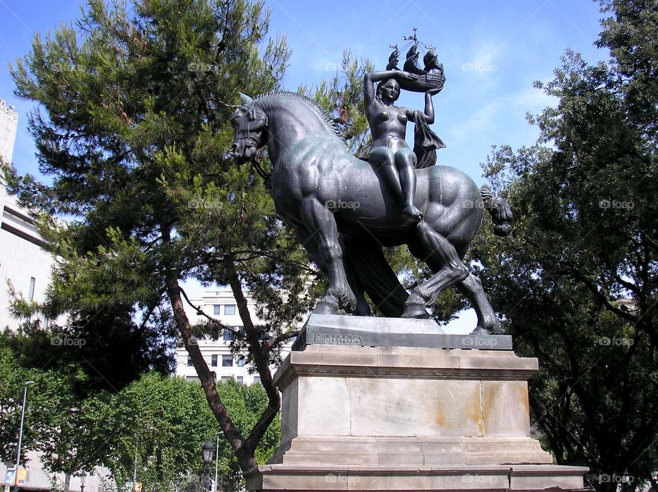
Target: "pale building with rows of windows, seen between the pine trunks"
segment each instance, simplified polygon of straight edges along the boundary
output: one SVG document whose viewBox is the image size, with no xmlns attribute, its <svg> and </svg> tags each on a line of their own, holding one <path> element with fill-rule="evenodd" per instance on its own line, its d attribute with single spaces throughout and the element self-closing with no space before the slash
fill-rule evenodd
<svg viewBox="0 0 658 492">
<path fill-rule="evenodd" d="M 191 303 L 194 306 L 198 306 L 206 315 L 218 319 L 230 327 L 241 328 L 242 326 L 233 293 L 228 288 L 219 291 L 208 291 L 202 299 L 191 299 Z M 261 323 L 258 316 L 256 316 L 256 305 L 250 297 L 247 297 L 247 308 L 249 308 L 254 324 L 258 325 Z M 186 314 L 192 324 L 202 323 L 204 320 L 207 320 L 206 317 L 199 315 L 188 305 L 186 305 Z M 229 378 L 235 378 L 243 384 L 259 382 L 260 377 L 258 373 L 249 373 L 250 367 L 245 364 L 245 358 L 231 353 L 231 337 L 231 332 L 225 330 L 217 341 L 209 339 L 197 340 L 204 359 L 208 363 L 208 367 L 210 367 L 211 371 L 215 371 L 217 380 L 228 381 Z M 292 341 L 289 341 L 283 347 L 282 356 L 284 358 L 290 352 L 291 345 Z M 270 369 L 273 371 L 275 368 L 271 367 Z M 192 365 L 192 360 L 184 347 L 176 350 L 176 376 L 183 376 L 188 381 L 199 380 Z"/>
</svg>

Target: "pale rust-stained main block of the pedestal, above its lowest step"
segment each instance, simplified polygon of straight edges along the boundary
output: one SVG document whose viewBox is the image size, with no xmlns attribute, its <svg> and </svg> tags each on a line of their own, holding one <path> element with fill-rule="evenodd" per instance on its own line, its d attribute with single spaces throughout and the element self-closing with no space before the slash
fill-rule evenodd
<svg viewBox="0 0 658 492">
<path fill-rule="evenodd" d="M 526 379 L 536 367 L 513 352 L 293 352 L 275 375 L 284 445 L 273 463 L 550 463 L 530 438 Z M 328 448 L 300 447 L 306 442 Z M 420 447 L 400 453 L 400 446 Z"/>
</svg>

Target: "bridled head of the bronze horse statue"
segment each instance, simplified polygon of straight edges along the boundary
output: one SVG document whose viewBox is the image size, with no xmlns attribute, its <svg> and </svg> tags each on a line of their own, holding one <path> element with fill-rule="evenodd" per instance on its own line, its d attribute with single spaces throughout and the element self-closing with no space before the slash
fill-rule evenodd
<svg viewBox="0 0 658 492">
<path fill-rule="evenodd" d="M 267 125 L 265 112 L 254 104 L 254 100 L 240 93 L 242 106 L 231 116 L 233 126 L 233 145 L 229 155 L 238 164 L 243 164 L 256 157 L 256 151 L 265 145 L 263 134 Z"/>
</svg>

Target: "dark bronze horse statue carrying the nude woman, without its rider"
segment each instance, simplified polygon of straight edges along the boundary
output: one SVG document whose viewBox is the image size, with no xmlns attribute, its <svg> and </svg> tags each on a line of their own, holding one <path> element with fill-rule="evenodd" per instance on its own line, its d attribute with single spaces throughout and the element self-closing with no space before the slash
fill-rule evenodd
<svg viewBox="0 0 658 492">
<path fill-rule="evenodd" d="M 314 101 L 280 91 L 240 97 L 242 106 L 231 117 L 230 155 L 241 164 L 267 145 L 276 210 L 328 275 L 328 290 L 314 312 L 367 316 L 367 292 L 385 316 L 427 317 L 426 307 L 455 286 L 476 310 L 474 333 L 500 330 L 480 280 L 462 258 L 484 208 L 496 234 L 509 234 L 512 215 L 502 199 L 488 188 L 478 190 L 459 169 L 418 169 L 414 203 L 424 218 L 406 222 L 402 204 L 382 186 L 376 169 L 350 154 L 331 117 Z M 434 273 L 411 293 L 382 253 L 383 246 L 404 244 Z"/>
</svg>

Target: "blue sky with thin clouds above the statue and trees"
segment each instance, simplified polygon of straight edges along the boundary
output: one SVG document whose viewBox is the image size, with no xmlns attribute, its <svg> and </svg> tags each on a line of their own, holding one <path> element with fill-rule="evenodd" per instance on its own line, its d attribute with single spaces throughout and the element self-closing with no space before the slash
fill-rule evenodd
<svg viewBox="0 0 658 492">
<path fill-rule="evenodd" d="M 537 138 L 525 115 L 552 101 L 532 84 L 552 78 L 565 49 L 582 53 L 589 62 L 608 56 L 594 47 L 601 14 L 598 3 L 589 0 L 266 3 L 271 8 L 270 34 L 286 34 L 293 50 L 283 81 L 289 90 L 331 77 L 345 49 L 384 69 L 389 45 L 402 46 L 402 36 L 416 27 L 418 38 L 436 47 L 446 71 L 446 85 L 434 97 L 437 116 L 432 129 L 447 145 L 437 163 L 462 169 L 478 184 L 483 183 L 480 162 L 491 145 L 516 148 Z M 0 0 L 0 15 L 0 99 L 16 106 L 20 115 L 14 165 L 21 173 L 38 174 L 27 132 L 32 103 L 14 97 L 6 66 L 29 51 L 34 33 L 44 34 L 77 18 L 80 6 L 69 0 Z M 421 109 L 423 95 L 406 93 L 398 103 Z"/>
</svg>

